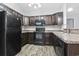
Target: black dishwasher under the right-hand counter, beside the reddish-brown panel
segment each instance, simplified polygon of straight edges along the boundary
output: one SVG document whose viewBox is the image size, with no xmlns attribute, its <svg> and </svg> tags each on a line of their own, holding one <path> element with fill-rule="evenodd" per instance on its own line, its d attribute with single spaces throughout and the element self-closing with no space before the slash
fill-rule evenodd
<svg viewBox="0 0 79 59">
<path fill-rule="evenodd" d="M 62 38 L 57 37 L 57 44 L 54 46 L 55 52 L 58 56 L 64 56 L 64 42 L 61 39 Z"/>
</svg>

